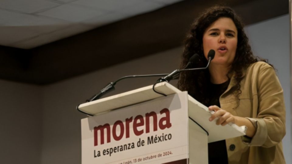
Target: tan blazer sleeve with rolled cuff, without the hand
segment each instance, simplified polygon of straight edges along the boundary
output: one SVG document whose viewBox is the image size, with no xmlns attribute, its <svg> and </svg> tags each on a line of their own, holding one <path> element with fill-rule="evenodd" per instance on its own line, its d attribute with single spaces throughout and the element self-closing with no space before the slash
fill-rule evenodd
<svg viewBox="0 0 292 164">
<path fill-rule="evenodd" d="M 249 145 L 272 147 L 286 134 L 283 89 L 273 67 L 266 63 L 259 68 L 256 76 L 256 84 L 252 85 L 257 89 L 253 102 L 257 99 L 258 114 L 256 118 L 248 118 L 256 128 Z"/>
</svg>

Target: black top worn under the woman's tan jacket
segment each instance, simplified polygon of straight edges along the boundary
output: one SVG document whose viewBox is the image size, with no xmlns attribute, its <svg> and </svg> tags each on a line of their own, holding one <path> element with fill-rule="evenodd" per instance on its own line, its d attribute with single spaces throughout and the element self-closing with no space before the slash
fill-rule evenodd
<svg viewBox="0 0 292 164">
<path fill-rule="evenodd" d="M 226 91 L 228 84 L 229 80 L 222 84 L 210 84 L 210 102 L 207 106 L 217 105 L 220 107 L 219 98 Z M 225 140 L 208 143 L 208 161 L 209 164 L 228 164 Z"/>
</svg>

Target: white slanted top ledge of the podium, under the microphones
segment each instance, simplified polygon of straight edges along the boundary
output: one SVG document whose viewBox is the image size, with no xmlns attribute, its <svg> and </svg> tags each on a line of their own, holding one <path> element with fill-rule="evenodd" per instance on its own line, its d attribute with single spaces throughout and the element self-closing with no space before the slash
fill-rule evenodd
<svg viewBox="0 0 292 164">
<path fill-rule="evenodd" d="M 110 97 L 105 97 L 103 99 L 87 102 L 80 104 L 78 108 L 86 113 L 99 115 L 115 109 L 153 100 L 158 97 L 163 97 L 163 95 L 155 93 L 152 90 L 152 87 L 153 85 L 150 85 Z M 155 90 L 166 95 L 182 92 L 167 82 L 156 84 Z M 188 108 L 189 118 L 195 120 L 196 123 L 200 124 L 209 133 L 208 142 L 215 142 L 245 135 L 247 129 L 246 126 L 238 127 L 234 123 L 229 123 L 225 126 L 216 125 L 217 119 L 210 122 L 208 118 L 210 118 L 211 113 L 208 110 L 208 107 L 196 101 L 189 95 Z"/>
</svg>

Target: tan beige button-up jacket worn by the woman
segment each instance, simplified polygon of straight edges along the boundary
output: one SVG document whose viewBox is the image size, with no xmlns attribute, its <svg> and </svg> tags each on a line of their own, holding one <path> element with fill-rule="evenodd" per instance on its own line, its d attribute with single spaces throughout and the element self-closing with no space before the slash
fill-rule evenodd
<svg viewBox="0 0 292 164">
<path fill-rule="evenodd" d="M 253 138 L 226 140 L 229 164 L 283 164 L 282 138 L 285 131 L 283 89 L 274 69 L 264 62 L 251 64 L 240 82 L 239 101 L 236 81 L 220 96 L 221 108 L 235 116 L 248 118 L 256 128 Z M 221 125 L 219 125 L 221 126 Z"/>
</svg>

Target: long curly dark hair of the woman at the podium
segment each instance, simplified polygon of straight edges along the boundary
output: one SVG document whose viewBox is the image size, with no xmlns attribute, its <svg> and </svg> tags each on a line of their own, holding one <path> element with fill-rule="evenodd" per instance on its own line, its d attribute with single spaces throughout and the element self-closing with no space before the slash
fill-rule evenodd
<svg viewBox="0 0 292 164">
<path fill-rule="evenodd" d="M 259 60 L 264 62 L 267 61 L 253 56 L 251 46 L 248 43 L 248 37 L 243 30 L 243 23 L 230 7 L 222 5 L 211 7 L 193 22 L 184 41 L 184 50 L 181 56 L 180 68 L 184 68 L 188 63 L 189 58 L 195 53 L 199 54 L 200 62 L 192 67 L 205 67 L 207 65 L 207 60 L 204 57 L 203 52 L 203 34 L 213 22 L 222 17 L 232 19 L 238 31 L 235 58 L 231 64 L 231 69 L 226 75 L 230 80 L 228 75 L 231 72 L 235 73 L 234 77 L 237 83 L 233 93 L 236 94 L 236 97 L 238 98 L 239 94 L 241 94 L 240 81 L 244 77 L 244 70 L 251 63 L 255 63 Z M 180 73 L 178 88 L 182 91 L 188 91 L 196 100 L 207 105 L 210 101 L 208 95 L 210 92 L 208 84 L 210 84 L 209 70 L 183 71 Z"/>
</svg>

